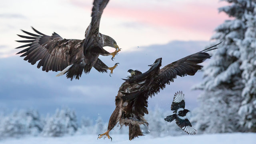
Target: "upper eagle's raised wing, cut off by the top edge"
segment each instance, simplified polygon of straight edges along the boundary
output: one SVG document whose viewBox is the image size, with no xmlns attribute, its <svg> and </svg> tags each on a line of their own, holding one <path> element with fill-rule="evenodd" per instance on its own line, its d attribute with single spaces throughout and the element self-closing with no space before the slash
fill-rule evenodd
<svg viewBox="0 0 256 144">
<path fill-rule="evenodd" d="M 99 35 L 99 27 L 100 27 L 100 18 L 103 13 L 104 8 L 108 4 L 109 0 L 94 0 L 93 7 L 92 7 L 92 21 L 85 32 L 85 41 L 84 41 L 84 55 L 86 53 L 86 50 L 90 46 L 92 46 L 94 42 L 94 38 L 96 35 Z M 98 41 L 98 40 L 96 40 Z"/>
</svg>

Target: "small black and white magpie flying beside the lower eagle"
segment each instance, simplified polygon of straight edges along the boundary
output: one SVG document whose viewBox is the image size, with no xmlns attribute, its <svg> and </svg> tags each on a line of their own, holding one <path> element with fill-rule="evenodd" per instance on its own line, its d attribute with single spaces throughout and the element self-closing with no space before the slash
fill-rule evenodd
<svg viewBox="0 0 256 144">
<path fill-rule="evenodd" d="M 192 135 L 196 134 L 196 130 L 186 117 L 186 114 L 190 111 L 185 109 L 185 98 L 182 91 L 174 94 L 171 110 L 174 110 L 174 114 L 164 118 L 165 121 L 172 122 L 173 120 L 176 120 L 176 124 L 186 133 Z"/>
</svg>

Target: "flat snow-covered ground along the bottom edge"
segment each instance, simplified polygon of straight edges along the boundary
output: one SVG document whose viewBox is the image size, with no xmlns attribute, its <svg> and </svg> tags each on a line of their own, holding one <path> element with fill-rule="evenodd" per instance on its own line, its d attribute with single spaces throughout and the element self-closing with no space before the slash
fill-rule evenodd
<svg viewBox="0 0 256 144">
<path fill-rule="evenodd" d="M 203 134 L 167 136 L 153 138 L 141 136 L 134 140 L 128 140 L 128 135 L 111 135 L 113 140 L 97 140 L 97 135 L 66 136 L 62 138 L 52 137 L 28 137 L 20 139 L 1 140 L 0 144 L 256 144 L 256 133 L 232 133 L 232 134 Z"/>
</svg>

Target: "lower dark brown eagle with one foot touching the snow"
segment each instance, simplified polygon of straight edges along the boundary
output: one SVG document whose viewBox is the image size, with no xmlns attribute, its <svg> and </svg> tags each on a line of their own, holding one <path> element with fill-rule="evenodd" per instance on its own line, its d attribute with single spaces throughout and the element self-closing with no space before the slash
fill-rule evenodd
<svg viewBox="0 0 256 144">
<path fill-rule="evenodd" d="M 119 88 L 115 100 L 116 108 L 110 116 L 108 130 L 104 134 L 99 134 L 98 138 L 111 138 L 109 132 L 118 122 L 120 126 L 129 126 L 129 140 L 143 136 L 140 124 L 148 126 L 148 122 L 144 119 L 144 115 L 148 114 L 148 97 L 154 96 L 160 92 L 160 89 L 163 90 L 166 84 L 173 82 L 177 76 L 193 76 L 203 67 L 198 64 L 211 57 L 207 52 L 216 49 L 214 47 L 217 45 L 186 56 L 161 69 L 162 58 L 158 58 L 144 73 L 128 70 L 131 76 L 123 79 L 125 82 Z"/>
</svg>

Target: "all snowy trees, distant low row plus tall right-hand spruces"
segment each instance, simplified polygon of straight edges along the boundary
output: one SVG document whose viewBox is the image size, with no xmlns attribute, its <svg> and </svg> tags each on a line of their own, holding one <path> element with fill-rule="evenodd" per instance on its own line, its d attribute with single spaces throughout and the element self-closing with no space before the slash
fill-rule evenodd
<svg viewBox="0 0 256 144">
<path fill-rule="evenodd" d="M 222 1 L 229 5 L 219 8 L 219 12 L 231 19 L 216 27 L 205 46 L 222 42 L 210 52 L 213 56 L 202 70 L 202 82 L 192 88 L 201 90 L 201 94 L 199 106 L 191 110 L 190 122 L 197 134 L 256 132 L 256 1 Z M 164 121 L 168 115 L 170 111 L 158 107 L 150 110 L 145 116 L 149 126 L 141 126 L 143 133 L 153 137 L 186 134 L 175 122 Z M 0 139 L 98 135 L 107 127 L 108 122 L 100 116 L 78 120 L 72 108 L 58 109 L 44 117 L 37 110 L 0 112 Z M 115 127 L 111 134 L 128 134 L 128 128 Z"/>
</svg>

